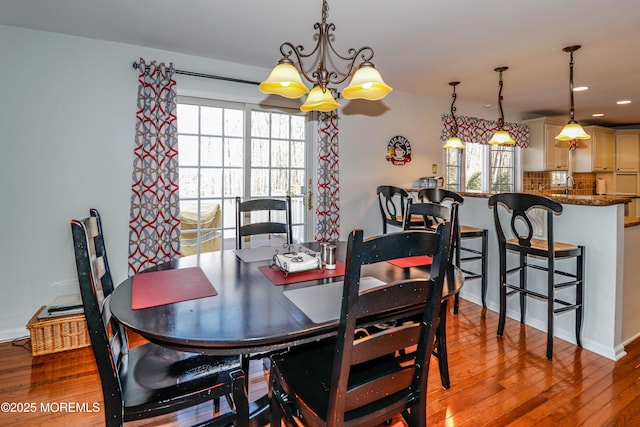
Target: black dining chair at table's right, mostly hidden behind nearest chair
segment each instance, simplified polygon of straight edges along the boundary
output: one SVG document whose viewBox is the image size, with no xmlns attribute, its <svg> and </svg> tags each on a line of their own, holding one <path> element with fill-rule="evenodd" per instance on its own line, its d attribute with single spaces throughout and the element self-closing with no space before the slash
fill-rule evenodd
<svg viewBox="0 0 640 427">
<path fill-rule="evenodd" d="M 451 223 L 451 235 L 449 254 L 447 255 L 448 266 L 452 265 L 453 255 L 453 239 L 454 239 L 454 225 L 453 218 L 455 216 L 453 206 L 449 208 L 447 206 L 439 205 L 437 203 L 410 203 L 407 205 L 407 212 L 405 213 L 405 220 L 403 224 L 404 230 L 435 230 L 438 225 L 450 222 Z M 410 218 L 422 218 L 422 225 L 411 225 Z M 457 297 L 458 294 L 456 293 Z M 455 297 L 454 297 L 455 298 Z M 446 390 L 451 388 L 451 379 L 449 376 L 449 356 L 447 355 L 447 305 L 449 298 L 443 298 L 440 304 L 440 324 L 436 331 L 436 345 L 433 354 L 438 358 L 438 368 L 440 370 L 440 381 L 442 387 Z M 419 319 L 413 319 L 419 321 Z"/>
</svg>

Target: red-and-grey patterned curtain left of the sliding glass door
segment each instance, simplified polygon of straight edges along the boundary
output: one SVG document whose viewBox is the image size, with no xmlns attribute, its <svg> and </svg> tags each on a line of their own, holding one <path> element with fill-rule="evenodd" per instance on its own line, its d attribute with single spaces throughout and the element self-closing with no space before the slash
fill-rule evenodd
<svg viewBox="0 0 640 427">
<path fill-rule="evenodd" d="M 140 59 L 129 274 L 180 255 L 177 96 L 173 64 Z"/>
</svg>

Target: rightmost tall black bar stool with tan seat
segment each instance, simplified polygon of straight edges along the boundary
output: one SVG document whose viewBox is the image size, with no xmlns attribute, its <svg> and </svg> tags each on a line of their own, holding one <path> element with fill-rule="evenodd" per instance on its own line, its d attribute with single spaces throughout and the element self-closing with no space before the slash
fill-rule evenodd
<svg viewBox="0 0 640 427">
<path fill-rule="evenodd" d="M 553 215 L 562 212 L 562 205 L 547 197 L 525 193 L 502 193 L 491 196 L 489 207 L 493 209 L 493 218 L 498 235 L 498 249 L 500 253 L 500 318 L 498 321 L 498 335 L 502 336 L 507 311 L 507 297 L 520 295 L 520 323 L 524 323 L 527 297 L 533 297 L 547 302 L 547 359 L 553 357 L 553 318 L 555 314 L 570 310 L 576 316 L 576 342 L 582 347 L 580 331 L 582 329 L 582 295 L 584 277 L 584 246 L 571 243 L 556 242 L 553 236 Z M 501 207 L 499 209 L 499 207 Z M 546 239 L 534 238 L 534 222 L 540 223 L 533 217 L 533 208 L 546 213 Z M 501 212 L 502 211 L 502 212 Z M 504 213 L 506 212 L 506 215 Z M 505 237 L 506 227 L 500 217 L 510 220 L 510 231 L 513 238 Z M 542 219 L 542 218 L 540 218 Z M 504 221 L 506 223 L 506 221 Z M 507 268 L 507 252 L 518 254 L 519 263 L 515 268 Z M 540 257 L 547 260 L 547 265 L 529 263 L 529 257 Z M 576 260 L 575 272 L 558 270 L 556 260 Z M 528 268 L 547 272 L 546 293 L 528 288 Z M 508 283 L 508 277 L 519 273 L 517 284 Z M 566 282 L 556 281 L 556 276 L 569 278 Z M 560 297 L 557 291 L 575 289 L 575 299 Z"/>
</svg>

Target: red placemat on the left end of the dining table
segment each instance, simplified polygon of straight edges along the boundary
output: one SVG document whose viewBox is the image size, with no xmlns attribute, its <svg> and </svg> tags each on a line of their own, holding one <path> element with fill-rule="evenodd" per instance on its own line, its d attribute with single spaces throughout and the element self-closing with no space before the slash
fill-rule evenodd
<svg viewBox="0 0 640 427">
<path fill-rule="evenodd" d="M 215 295 L 218 295 L 218 291 L 200 267 L 151 271 L 133 276 L 131 309 L 139 310 Z"/>
</svg>

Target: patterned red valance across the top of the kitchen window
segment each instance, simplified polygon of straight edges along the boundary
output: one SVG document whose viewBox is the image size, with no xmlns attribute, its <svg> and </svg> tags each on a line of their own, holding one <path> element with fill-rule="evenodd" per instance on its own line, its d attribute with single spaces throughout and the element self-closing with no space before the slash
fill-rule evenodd
<svg viewBox="0 0 640 427">
<path fill-rule="evenodd" d="M 477 144 L 487 144 L 498 130 L 497 120 L 485 120 L 477 117 L 456 116 L 458 122 L 458 137 L 463 142 L 475 142 Z M 453 126 L 451 114 L 442 115 L 442 133 L 440 139 L 444 143 L 449 139 Z M 504 129 L 511 134 L 516 141 L 516 147 L 527 148 L 529 146 L 529 126 L 520 123 L 504 124 Z"/>
</svg>

